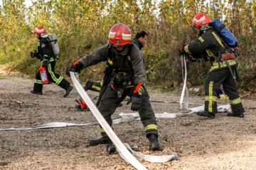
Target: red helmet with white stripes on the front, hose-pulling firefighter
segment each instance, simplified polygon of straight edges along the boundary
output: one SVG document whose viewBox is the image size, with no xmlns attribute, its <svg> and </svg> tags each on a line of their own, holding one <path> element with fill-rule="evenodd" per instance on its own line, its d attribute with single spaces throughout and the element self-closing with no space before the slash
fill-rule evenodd
<svg viewBox="0 0 256 170">
<path fill-rule="evenodd" d="M 132 44 L 131 30 L 124 23 L 117 23 L 110 28 L 109 42 L 116 46 Z"/>
</svg>

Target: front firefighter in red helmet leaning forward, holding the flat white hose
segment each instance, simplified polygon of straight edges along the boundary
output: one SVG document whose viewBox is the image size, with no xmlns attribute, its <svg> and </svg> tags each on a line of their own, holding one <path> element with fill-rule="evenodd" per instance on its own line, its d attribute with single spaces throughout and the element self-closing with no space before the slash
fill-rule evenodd
<svg viewBox="0 0 256 170">
<path fill-rule="evenodd" d="M 128 26 L 118 23 L 110 29 L 108 43 L 99 47 L 90 55 L 82 57 L 67 69 L 69 72 L 80 72 L 99 62 L 106 62 L 105 77 L 102 82 L 97 108 L 107 123 L 112 127 L 111 115 L 126 96 L 132 101 L 132 111 L 138 111 L 149 149 L 159 149 L 158 126 L 154 111 L 149 103 L 149 94 L 144 86 L 146 69 L 142 52 L 132 45 L 132 35 Z M 111 140 L 100 127 L 102 137 L 91 140 L 90 145 L 110 144 Z"/>
</svg>

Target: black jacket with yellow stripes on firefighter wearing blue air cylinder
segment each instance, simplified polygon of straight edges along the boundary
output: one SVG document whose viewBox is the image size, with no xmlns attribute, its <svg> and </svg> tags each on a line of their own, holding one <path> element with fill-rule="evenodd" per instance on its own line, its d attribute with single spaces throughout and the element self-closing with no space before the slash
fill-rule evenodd
<svg viewBox="0 0 256 170">
<path fill-rule="evenodd" d="M 228 53 L 228 50 L 212 28 L 203 30 L 198 40 L 186 45 L 184 51 L 194 57 L 202 53 L 210 57 L 210 61 L 213 61 L 210 72 L 226 68 L 228 65 L 232 67 L 237 64 L 235 60 L 227 60 L 227 62 L 221 60 L 221 54 Z"/>
</svg>

